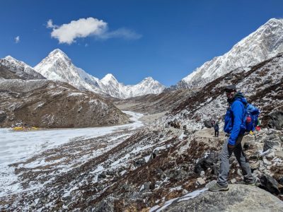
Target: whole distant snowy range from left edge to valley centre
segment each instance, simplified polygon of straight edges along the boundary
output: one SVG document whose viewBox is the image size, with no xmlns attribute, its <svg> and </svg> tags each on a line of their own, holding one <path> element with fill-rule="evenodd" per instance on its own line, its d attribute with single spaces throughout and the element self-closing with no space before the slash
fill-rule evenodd
<svg viewBox="0 0 283 212">
<path fill-rule="evenodd" d="M 144 78 L 143 81 L 132 86 L 119 83 L 111 73 L 99 80 L 83 71 L 83 69 L 76 67 L 67 54 L 60 49 L 54 49 L 34 68 L 11 56 L 0 59 L 0 65 L 4 66 L 6 71 L 5 74 L 4 71 L 1 71 L 3 74 L 1 74 L 0 78 L 5 78 L 4 75 L 11 76 L 11 74 L 16 74 L 16 77 L 13 76 L 12 78 L 25 80 L 47 78 L 52 81 L 67 82 L 79 90 L 91 90 L 94 93 L 104 96 L 110 95 L 114 98 L 125 99 L 151 93 L 158 94 L 165 88 L 151 77 Z M 7 70 L 9 73 L 7 73 Z"/>
</svg>

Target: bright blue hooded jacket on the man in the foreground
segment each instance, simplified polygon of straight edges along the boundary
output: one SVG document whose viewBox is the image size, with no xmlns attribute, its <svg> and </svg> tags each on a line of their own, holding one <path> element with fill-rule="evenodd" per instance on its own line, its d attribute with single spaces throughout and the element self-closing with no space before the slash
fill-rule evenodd
<svg viewBox="0 0 283 212">
<path fill-rule="evenodd" d="M 245 114 L 245 105 L 247 104 L 246 98 L 243 94 L 236 93 L 225 115 L 224 132 L 231 134 L 228 143 L 231 145 L 236 144 L 236 140 L 241 132 L 241 124 Z"/>
</svg>

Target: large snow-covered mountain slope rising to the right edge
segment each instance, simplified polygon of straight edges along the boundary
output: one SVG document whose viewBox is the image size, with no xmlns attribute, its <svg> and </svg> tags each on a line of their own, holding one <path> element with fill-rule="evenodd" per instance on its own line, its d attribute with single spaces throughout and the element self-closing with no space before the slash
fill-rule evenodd
<svg viewBox="0 0 283 212">
<path fill-rule="evenodd" d="M 283 52 L 283 19 L 272 18 L 234 45 L 229 52 L 205 62 L 173 87 L 204 86 L 233 69 L 253 66 L 280 52 Z"/>
</svg>

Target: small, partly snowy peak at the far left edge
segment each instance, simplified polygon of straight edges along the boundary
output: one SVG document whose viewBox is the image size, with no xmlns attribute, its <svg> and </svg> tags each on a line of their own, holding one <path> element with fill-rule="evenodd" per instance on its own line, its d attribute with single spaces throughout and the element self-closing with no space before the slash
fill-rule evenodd
<svg viewBox="0 0 283 212">
<path fill-rule="evenodd" d="M 0 59 L 1 66 L 4 66 L 8 71 L 16 74 L 19 78 L 22 79 L 44 79 L 40 73 L 35 71 L 32 67 L 25 64 L 23 61 L 19 61 L 14 59 L 11 56 L 4 57 L 4 59 Z"/>
</svg>

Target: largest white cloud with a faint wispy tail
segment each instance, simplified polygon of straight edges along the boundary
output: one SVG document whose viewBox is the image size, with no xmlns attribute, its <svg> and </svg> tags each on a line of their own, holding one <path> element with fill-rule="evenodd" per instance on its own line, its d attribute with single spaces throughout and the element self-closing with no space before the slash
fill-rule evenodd
<svg viewBox="0 0 283 212">
<path fill-rule="evenodd" d="M 51 37 L 59 40 L 59 43 L 67 43 L 71 45 L 76 42 L 78 37 L 93 36 L 103 40 L 112 37 L 122 37 L 124 39 L 139 39 L 141 35 L 134 33 L 132 30 L 120 28 L 115 31 L 108 31 L 108 23 L 96 18 L 80 18 L 79 20 L 71 20 L 70 23 L 63 25 L 54 25 L 52 20 L 47 21 L 47 28 L 52 28 Z"/>
</svg>

